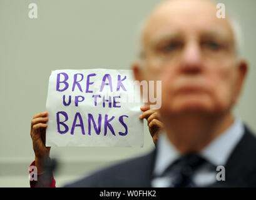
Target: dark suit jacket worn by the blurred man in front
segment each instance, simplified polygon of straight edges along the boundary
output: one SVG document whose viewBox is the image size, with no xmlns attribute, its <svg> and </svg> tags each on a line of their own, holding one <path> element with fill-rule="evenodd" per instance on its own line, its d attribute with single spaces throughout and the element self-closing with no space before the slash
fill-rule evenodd
<svg viewBox="0 0 256 200">
<path fill-rule="evenodd" d="M 66 187 L 151 187 L 156 149 L 146 156 L 103 169 Z M 225 165 L 225 181 L 216 181 L 210 187 L 255 186 L 256 137 L 245 126 L 245 134 Z"/>
</svg>

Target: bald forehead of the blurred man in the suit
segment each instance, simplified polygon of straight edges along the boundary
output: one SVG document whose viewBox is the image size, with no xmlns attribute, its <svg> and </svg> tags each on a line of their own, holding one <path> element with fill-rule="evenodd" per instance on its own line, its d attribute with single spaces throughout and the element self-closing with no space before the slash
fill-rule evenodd
<svg viewBox="0 0 256 200">
<path fill-rule="evenodd" d="M 189 31 L 192 34 L 192 30 L 215 30 L 232 37 L 228 19 L 218 19 L 216 12 L 216 4 L 206 0 L 165 1 L 148 17 L 143 30 L 143 41 L 155 40 L 168 32 Z"/>
</svg>

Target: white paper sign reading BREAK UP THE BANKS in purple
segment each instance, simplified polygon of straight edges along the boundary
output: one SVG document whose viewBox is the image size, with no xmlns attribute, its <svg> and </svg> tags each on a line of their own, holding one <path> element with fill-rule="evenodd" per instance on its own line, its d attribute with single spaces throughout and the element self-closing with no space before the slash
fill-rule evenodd
<svg viewBox="0 0 256 200">
<path fill-rule="evenodd" d="M 131 70 L 52 71 L 46 146 L 142 147 L 140 92 L 132 83 Z"/>
</svg>

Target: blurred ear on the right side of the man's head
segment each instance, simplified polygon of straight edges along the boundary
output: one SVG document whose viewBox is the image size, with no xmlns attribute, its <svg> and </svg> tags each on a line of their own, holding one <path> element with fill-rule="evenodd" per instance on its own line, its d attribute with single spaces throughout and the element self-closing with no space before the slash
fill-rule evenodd
<svg viewBox="0 0 256 200">
<path fill-rule="evenodd" d="M 238 97 L 240 96 L 240 93 L 242 91 L 243 88 L 243 83 L 245 82 L 245 78 L 248 72 L 248 64 L 245 60 L 241 60 L 238 63 L 237 66 L 237 70 L 238 70 L 238 76 L 237 76 L 237 97 L 235 99 L 235 101 L 237 101 Z"/>
</svg>

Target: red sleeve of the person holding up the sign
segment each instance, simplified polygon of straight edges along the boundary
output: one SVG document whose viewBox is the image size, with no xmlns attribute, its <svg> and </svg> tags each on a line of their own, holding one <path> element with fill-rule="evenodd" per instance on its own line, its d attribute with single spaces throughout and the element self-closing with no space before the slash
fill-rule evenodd
<svg viewBox="0 0 256 200">
<path fill-rule="evenodd" d="M 44 174 L 38 174 L 36 173 L 36 171 L 34 171 L 36 168 L 35 166 L 35 162 L 33 161 L 30 166 L 29 166 L 29 184 L 30 187 L 37 187 L 38 182 L 40 181 L 40 177 Z M 46 187 L 56 187 L 56 181 L 53 177 L 53 175 L 51 176 L 51 180 L 49 181 L 49 185 Z"/>
</svg>

